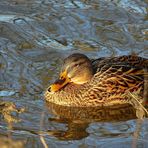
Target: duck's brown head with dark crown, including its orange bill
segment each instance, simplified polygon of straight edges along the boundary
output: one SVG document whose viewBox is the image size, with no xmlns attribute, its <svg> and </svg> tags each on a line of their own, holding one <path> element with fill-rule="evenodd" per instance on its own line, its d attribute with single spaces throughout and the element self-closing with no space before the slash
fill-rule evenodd
<svg viewBox="0 0 148 148">
<path fill-rule="evenodd" d="M 91 60 L 80 53 L 72 54 L 64 60 L 59 79 L 50 85 L 48 91 L 57 92 L 69 83 L 77 85 L 87 83 L 92 76 Z"/>
</svg>

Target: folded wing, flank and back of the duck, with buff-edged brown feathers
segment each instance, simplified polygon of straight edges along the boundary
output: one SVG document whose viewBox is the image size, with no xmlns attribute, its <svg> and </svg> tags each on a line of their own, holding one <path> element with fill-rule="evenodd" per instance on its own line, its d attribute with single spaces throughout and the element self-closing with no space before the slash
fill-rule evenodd
<svg viewBox="0 0 148 148">
<path fill-rule="evenodd" d="M 126 92 L 138 92 L 143 97 L 144 82 L 148 81 L 148 59 L 129 55 L 100 58 L 92 64 L 95 74 L 88 94 L 94 94 L 100 102 L 125 101 Z"/>
</svg>

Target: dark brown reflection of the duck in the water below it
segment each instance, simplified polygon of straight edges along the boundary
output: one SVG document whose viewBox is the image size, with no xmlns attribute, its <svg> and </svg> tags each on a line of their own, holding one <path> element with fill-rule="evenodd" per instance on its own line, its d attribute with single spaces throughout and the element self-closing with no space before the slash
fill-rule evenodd
<svg viewBox="0 0 148 148">
<path fill-rule="evenodd" d="M 48 130 L 49 135 L 60 140 L 79 140 L 89 136 L 87 128 L 93 122 L 126 121 L 136 118 L 136 111 L 130 104 L 109 107 L 66 107 L 47 103 L 49 112 L 54 118 L 50 123 L 65 124 L 66 130 Z"/>
</svg>

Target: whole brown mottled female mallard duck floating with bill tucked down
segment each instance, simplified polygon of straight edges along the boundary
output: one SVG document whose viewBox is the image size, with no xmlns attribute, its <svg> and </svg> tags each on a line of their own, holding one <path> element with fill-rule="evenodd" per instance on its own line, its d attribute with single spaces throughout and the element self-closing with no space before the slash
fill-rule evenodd
<svg viewBox="0 0 148 148">
<path fill-rule="evenodd" d="M 64 60 L 60 77 L 45 99 L 64 106 L 108 106 L 129 103 L 129 92 L 143 97 L 148 59 L 136 55 L 90 60 L 72 54 Z"/>
</svg>

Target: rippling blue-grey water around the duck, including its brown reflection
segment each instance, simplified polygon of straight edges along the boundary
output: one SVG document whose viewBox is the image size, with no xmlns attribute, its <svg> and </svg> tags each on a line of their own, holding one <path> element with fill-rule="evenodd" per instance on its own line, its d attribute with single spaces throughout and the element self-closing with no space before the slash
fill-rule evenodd
<svg viewBox="0 0 148 148">
<path fill-rule="evenodd" d="M 43 98 L 67 55 L 147 58 L 147 35 L 146 0 L 0 0 L 1 143 L 8 136 L 28 148 L 148 147 L 148 120 L 128 105 L 85 110 Z"/>
</svg>

